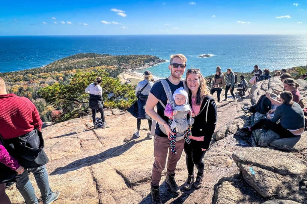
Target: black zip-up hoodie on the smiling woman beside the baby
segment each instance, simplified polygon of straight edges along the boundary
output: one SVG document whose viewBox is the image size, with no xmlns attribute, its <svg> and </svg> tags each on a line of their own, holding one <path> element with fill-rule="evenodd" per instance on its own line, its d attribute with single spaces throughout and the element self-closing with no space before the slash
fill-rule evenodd
<svg viewBox="0 0 307 204">
<path fill-rule="evenodd" d="M 192 96 L 189 95 L 189 102 L 192 107 Z M 211 96 L 205 96 L 200 106 L 200 112 L 194 117 L 195 121 L 192 125 L 192 136 L 204 136 L 202 148 L 208 149 L 212 140 L 217 121 L 216 103 Z"/>
</svg>

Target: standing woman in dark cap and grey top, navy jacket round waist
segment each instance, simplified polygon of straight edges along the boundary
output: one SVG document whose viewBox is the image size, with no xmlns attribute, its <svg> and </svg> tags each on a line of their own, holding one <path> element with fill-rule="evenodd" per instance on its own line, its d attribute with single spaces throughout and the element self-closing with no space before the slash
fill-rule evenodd
<svg viewBox="0 0 307 204">
<path fill-rule="evenodd" d="M 135 95 L 137 96 L 138 100 L 136 101 L 136 104 L 134 103 L 129 109 L 128 112 L 131 113 L 134 117 L 137 118 L 136 124 L 137 124 L 137 131 L 134 133 L 136 137 L 140 137 L 140 128 L 141 128 L 141 119 L 147 119 L 148 126 L 149 126 L 149 132 L 147 135 L 150 139 L 152 139 L 153 135 L 151 133 L 151 125 L 152 125 L 152 119 L 145 113 L 145 104 L 147 101 L 147 97 L 149 95 L 150 89 L 153 86 L 153 75 L 150 71 L 144 72 L 144 80 L 140 81 L 135 89 Z"/>
</svg>

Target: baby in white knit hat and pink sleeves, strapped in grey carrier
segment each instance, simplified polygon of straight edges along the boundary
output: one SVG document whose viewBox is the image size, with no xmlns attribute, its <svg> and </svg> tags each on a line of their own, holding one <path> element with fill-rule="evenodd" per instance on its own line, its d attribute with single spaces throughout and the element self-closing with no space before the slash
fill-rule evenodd
<svg viewBox="0 0 307 204">
<path fill-rule="evenodd" d="M 195 116 L 190 104 L 188 104 L 188 93 L 183 87 L 180 87 L 174 91 L 173 98 L 175 101 L 175 107 L 172 107 L 171 103 L 168 101 L 164 110 L 164 115 L 169 117 L 169 126 L 172 129 L 174 136 L 170 135 L 169 144 L 173 155 L 177 154 L 175 144 L 176 136 L 178 133 L 184 132 L 184 139 L 189 144 L 191 141 L 189 135 L 191 130 L 188 125 L 191 123 L 192 118 L 188 122 L 187 114 L 190 113 L 192 117 Z"/>
</svg>

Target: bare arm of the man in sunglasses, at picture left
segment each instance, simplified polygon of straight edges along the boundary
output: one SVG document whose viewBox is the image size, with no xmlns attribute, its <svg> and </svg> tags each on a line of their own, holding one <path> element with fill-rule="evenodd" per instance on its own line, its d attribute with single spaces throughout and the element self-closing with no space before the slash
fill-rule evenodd
<svg viewBox="0 0 307 204">
<path fill-rule="evenodd" d="M 169 127 L 169 124 L 165 122 L 165 120 L 158 115 L 158 113 L 154 110 L 154 107 L 159 102 L 159 99 L 157 99 L 152 93 L 149 93 L 147 102 L 145 105 L 145 112 L 153 119 L 159 122 L 160 124 L 163 124 L 166 134 L 169 138 L 169 134 L 174 135 L 173 131 Z"/>
</svg>

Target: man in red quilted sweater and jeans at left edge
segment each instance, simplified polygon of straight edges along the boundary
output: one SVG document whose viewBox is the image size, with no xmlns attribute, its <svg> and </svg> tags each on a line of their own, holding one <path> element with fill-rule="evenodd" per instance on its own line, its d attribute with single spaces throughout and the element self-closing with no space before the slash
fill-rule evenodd
<svg viewBox="0 0 307 204">
<path fill-rule="evenodd" d="M 40 115 L 34 104 L 25 97 L 7 94 L 4 80 L 0 77 L 0 135 L 10 154 L 25 169 L 30 168 L 41 191 L 44 204 L 55 201 L 59 191 L 52 192 L 45 164 L 49 161 L 43 150 Z M 9 148 L 8 148 L 9 147 Z M 0 152 L 2 154 L 2 151 Z M 5 173 L 1 167 L 1 174 Z M 25 203 L 38 204 L 28 171 L 15 177 L 16 187 Z M 0 200 L 2 203 L 2 200 Z"/>
</svg>

